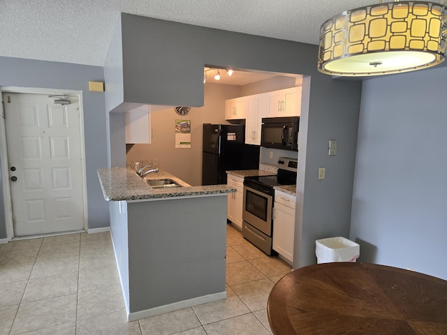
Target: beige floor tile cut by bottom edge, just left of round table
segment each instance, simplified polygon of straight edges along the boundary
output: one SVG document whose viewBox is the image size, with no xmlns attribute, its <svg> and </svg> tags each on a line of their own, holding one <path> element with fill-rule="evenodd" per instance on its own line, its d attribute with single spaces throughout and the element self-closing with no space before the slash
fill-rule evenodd
<svg viewBox="0 0 447 335">
<path fill-rule="evenodd" d="M 207 335 L 270 335 L 252 314 L 245 314 L 203 326 Z"/>
</svg>

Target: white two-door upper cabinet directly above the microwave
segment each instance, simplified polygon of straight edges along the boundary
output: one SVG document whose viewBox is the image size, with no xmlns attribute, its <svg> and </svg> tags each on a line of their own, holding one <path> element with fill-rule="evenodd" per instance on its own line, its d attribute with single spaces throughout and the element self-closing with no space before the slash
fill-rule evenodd
<svg viewBox="0 0 447 335">
<path fill-rule="evenodd" d="M 301 87 L 268 93 L 268 106 L 267 117 L 299 117 L 301 112 Z"/>
</svg>

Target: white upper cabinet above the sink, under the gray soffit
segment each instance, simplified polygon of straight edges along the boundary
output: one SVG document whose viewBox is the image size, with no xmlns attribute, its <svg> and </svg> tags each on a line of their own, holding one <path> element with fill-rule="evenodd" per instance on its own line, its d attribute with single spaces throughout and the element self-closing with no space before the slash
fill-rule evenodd
<svg viewBox="0 0 447 335">
<path fill-rule="evenodd" d="M 142 105 L 124 113 L 126 143 L 150 143 L 149 106 Z"/>
</svg>

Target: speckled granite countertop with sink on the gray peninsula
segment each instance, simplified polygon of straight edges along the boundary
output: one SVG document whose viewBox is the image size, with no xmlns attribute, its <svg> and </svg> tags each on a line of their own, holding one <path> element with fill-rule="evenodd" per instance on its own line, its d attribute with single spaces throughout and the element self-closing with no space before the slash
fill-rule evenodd
<svg viewBox="0 0 447 335">
<path fill-rule="evenodd" d="M 233 193 L 235 188 L 226 185 L 190 186 L 169 172 L 159 170 L 145 176 L 145 179 L 173 179 L 183 187 L 152 188 L 131 168 L 101 168 L 97 170 L 104 199 L 107 201 L 129 201 L 159 198 L 190 197 Z"/>
</svg>

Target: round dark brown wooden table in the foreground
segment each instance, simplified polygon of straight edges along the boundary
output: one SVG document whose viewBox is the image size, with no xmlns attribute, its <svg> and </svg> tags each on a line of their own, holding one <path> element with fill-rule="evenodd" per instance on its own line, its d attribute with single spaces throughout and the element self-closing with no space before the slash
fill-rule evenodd
<svg viewBox="0 0 447 335">
<path fill-rule="evenodd" d="M 274 285 L 268 320 L 274 335 L 446 335 L 447 281 L 368 263 L 310 265 Z"/>
</svg>

